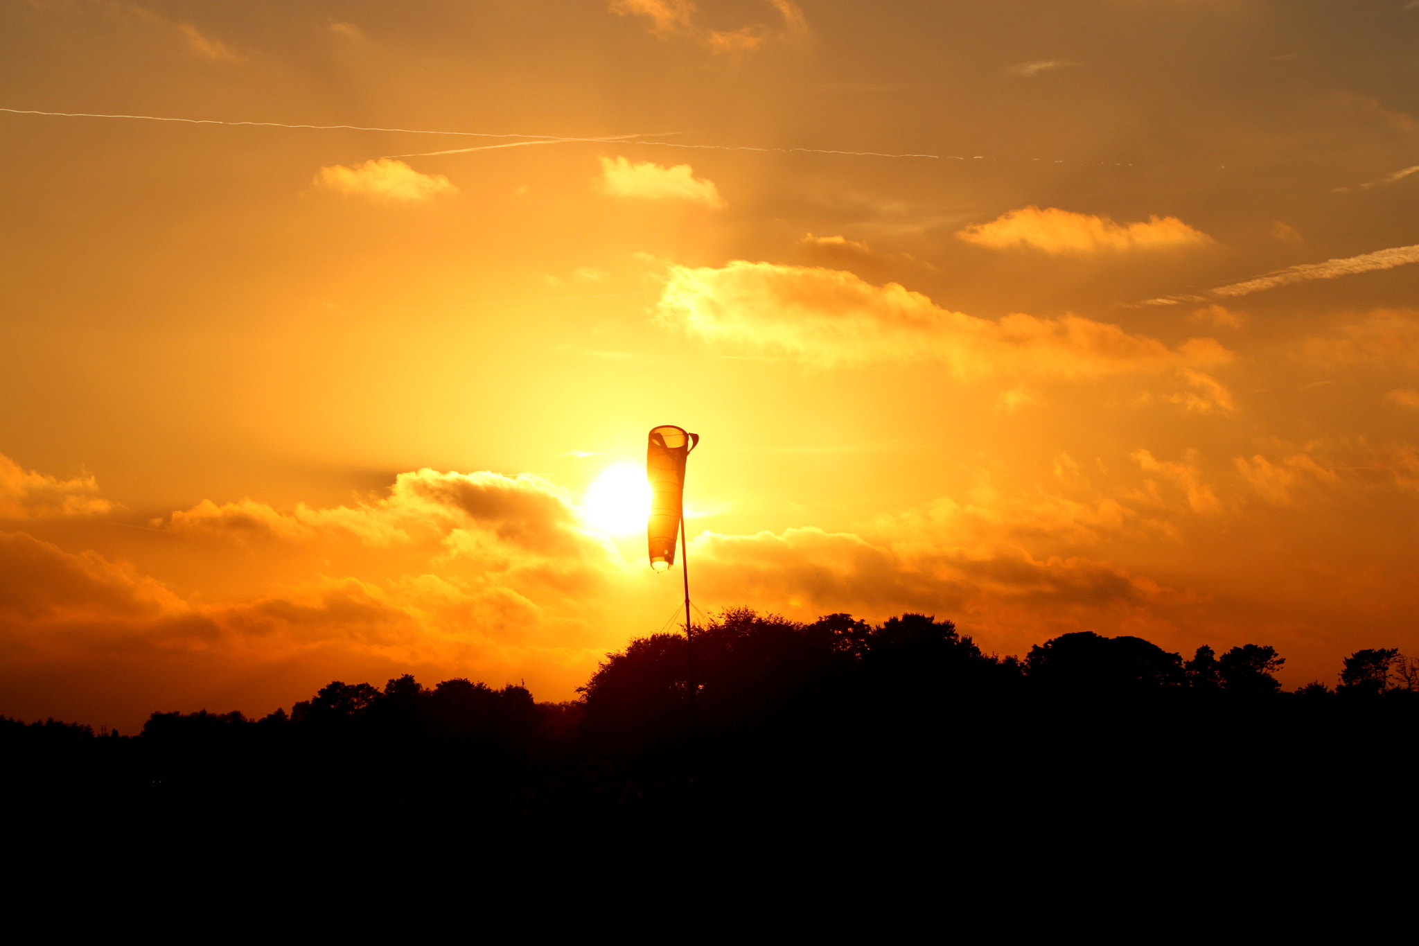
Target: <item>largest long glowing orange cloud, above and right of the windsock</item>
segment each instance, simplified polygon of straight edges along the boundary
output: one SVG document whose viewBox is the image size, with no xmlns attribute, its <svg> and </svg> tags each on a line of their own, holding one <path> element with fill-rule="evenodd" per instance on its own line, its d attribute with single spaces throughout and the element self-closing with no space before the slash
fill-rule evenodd
<svg viewBox="0 0 1419 946">
<path fill-rule="evenodd" d="M 673 265 L 656 316 L 715 345 L 820 365 L 941 362 L 961 379 L 1172 372 L 1230 357 L 1213 339 L 1169 349 L 1074 315 L 981 319 L 942 309 L 894 282 L 876 286 L 840 269 L 772 262 Z"/>
</svg>

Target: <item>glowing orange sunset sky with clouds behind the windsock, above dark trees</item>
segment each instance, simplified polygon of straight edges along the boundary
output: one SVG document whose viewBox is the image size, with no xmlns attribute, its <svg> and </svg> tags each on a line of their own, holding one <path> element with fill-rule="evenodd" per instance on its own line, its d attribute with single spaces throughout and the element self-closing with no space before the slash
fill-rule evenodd
<svg viewBox="0 0 1419 946">
<path fill-rule="evenodd" d="M 657 424 L 702 437 L 702 613 L 1413 655 L 1416 41 L 1405 0 L 10 0 L 0 713 L 570 699 L 675 627 L 619 505 Z"/>
</svg>

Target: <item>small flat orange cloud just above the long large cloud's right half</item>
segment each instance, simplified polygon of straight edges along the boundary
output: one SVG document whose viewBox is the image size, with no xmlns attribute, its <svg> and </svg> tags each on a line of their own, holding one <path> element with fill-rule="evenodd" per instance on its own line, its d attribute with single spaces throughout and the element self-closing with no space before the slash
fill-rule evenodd
<svg viewBox="0 0 1419 946">
<path fill-rule="evenodd" d="M 1034 206 L 966 227 L 956 237 L 990 250 L 1030 248 L 1051 254 L 1168 250 L 1212 243 L 1212 237 L 1176 217 L 1152 216 L 1145 223 L 1117 224 L 1108 217 Z"/>
</svg>

